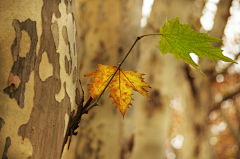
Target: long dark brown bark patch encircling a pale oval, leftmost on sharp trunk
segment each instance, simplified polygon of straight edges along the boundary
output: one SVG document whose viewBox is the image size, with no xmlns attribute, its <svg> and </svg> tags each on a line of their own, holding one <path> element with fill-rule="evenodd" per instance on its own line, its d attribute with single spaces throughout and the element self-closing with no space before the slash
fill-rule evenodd
<svg viewBox="0 0 240 159">
<path fill-rule="evenodd" d="M 36 46 L 38 42 L 36 22 L 27 19 L 20 23 L 19 20 L 14 19 L 12 25 L 16 32 L 16 37 L 11 47 L 14 63 L 9 75 L 8 87 L 4 89 L 4 92 L 9 94 L 10 98 L 15 98 L 20 108 L 24 108 L 25 84 L 29 80 L 30 73 L 34 70 L 36 61 Z M 31 39 L 30 50 L 26 57 L 19 55 L 23 30 L 28 33 Z M 21 46 L 24 46 L 24 44 L 21 44 Z"/>
</svg>

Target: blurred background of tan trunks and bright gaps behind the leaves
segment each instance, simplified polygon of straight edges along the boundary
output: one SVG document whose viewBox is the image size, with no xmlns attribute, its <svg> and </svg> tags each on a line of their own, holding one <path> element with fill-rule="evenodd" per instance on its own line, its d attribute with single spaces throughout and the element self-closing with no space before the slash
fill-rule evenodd
<svg viewBox="0 0 240 159">
<path fill-rule="evenodd" d="M 166 17 L 223 39 L 212 45 L 239 62 L 239 7 L 239 0 L 76 0 L 85 101 L 93 79 L 84 74 L 97 64 L 117 66 L 137 36 L 159 33 Z M 106 91 L 63 159 L 240 158 L 239 65 L 193 54 L 204 76 L 172 54 L 162 56 L 158 40 L 141 39 L 122 66 L 145 74 L 151 100 L 133 92 L 123 119 Z"/>
</svg>

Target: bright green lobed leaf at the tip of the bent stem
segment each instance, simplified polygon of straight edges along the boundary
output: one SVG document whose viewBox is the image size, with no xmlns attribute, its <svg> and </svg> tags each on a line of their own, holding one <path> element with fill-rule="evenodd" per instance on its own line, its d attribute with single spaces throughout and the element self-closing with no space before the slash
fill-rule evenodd
<svg viewBox="0 0 240 159">
<path fill-rule="evenodd" d="M 221 39 L 209 36 L 207 33 L 197 33 L 190 27 L 190 24 L 179 24 L 178 17 L 172 20 L 166 19 L 165 24 L 160 28 L 159 50 L 162 54 L 172 53 L 177 60 L 182 59 L 196 69 L 198 65 L 192 60 L 190 53 L 203 59 L 205 56 L 210 60 L 236 63 L 224 56 L 223 50 L 211 46 L 211 42 L 221 42 Z"/>
</svg>

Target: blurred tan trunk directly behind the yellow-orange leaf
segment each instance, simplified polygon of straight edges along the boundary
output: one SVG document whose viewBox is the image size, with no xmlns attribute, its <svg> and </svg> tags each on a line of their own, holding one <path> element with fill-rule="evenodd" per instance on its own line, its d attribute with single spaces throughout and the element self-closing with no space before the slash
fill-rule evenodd
<svg viewBox="0 0 240 159">
<path fill-rule="evenodd" d="M 81 79 L 85 97 L 93 79 L 83 75 L 98 68 L 97 64 L 115 65 L 124 58 L 139 36 L 142 1 L 140 0 L 78 0 L 79 50 Z M 135 70 L 138 45 L 122 65 Z M 127 158 L 132 151 L 134 107 L 127 110 L 124 120 L 107 90 L 94 107 L 83 116 L 79 135 L 65 158 Z M 63 158 L 64 158 L 63 157 Z"/>
</svg>

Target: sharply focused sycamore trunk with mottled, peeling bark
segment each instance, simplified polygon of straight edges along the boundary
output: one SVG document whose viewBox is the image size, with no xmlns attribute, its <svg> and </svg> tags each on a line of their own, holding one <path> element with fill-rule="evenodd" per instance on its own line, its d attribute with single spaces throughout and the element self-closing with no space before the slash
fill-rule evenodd
<svg viewBox="0 0 240 159">
<path fill-rule="evenodd" d="M 0 1 L 0 156 L 57 159 L 79 77 L 75 1 Z"/>
</svg>

